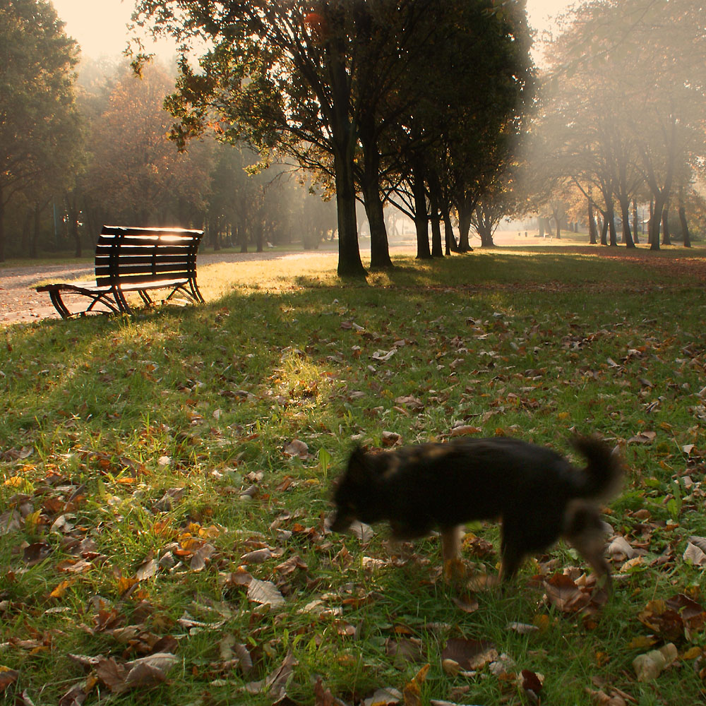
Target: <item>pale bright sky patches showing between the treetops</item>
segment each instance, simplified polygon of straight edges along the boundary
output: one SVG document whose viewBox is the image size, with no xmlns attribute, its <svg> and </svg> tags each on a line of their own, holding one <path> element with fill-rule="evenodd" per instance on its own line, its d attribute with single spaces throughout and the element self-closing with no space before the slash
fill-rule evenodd
<svg viewBox="0 0 706 706">
<path fill-rule="evenodd" d="M 84 56 L 121 54 L 127 44 L 126 24 L 133 0 L 52 0 L 56 13 L 66 23 L 66 33 L 81 47 Z M 537 30 L 549 28 L 550 19 L 573 4 L 573 0 L 527 0 L 530 25 Z M 164 59 L 174 53 L 166 42 L 152 49 Z"/>
</svg>

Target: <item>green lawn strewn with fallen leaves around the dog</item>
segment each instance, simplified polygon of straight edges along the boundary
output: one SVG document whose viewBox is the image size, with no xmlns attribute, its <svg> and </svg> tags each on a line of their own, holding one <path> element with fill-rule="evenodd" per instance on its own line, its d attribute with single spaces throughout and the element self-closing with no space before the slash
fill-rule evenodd
<svg viewBox="0 0 706 706">
<path fill-rule="evenodd" d="M 343 285 L 331 258 L 210 265 L 205 306 L 5 327 L 0 693 L 522 704 L 525 670 L 546 703 L 700 702 L 704 568 L 683 554 L 706 537 L 706 258 L 605 253 L 398 258 Z M 325 532 L 354 443 L 458 424 L 563 453 L 573 429 L 621 447 L 606 520 L 637 556 L 614 558 L 611 602 L 566 546 L 512 590 L 472 592 L 443 581 L 433 538 L 400 553 L 382 526 Z M 469 530 L 493 545 L 469 534 L 467 562 L 494 575 L 497 527 Z M 564 571 L 566 601 L 551 591 Z M 450 638 L 497 654 L 453 674 Z M 669 643 L 674 664 L 638 681 L 633 659 Z M 155 652 L 166 662 L 134 671 Z"/>
</svg>

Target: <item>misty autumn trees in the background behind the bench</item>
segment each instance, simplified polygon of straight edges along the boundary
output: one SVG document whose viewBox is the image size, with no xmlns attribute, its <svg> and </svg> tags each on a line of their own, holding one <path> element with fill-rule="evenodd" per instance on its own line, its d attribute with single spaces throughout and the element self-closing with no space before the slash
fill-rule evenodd
<svg viewBox="0 0 706 706">
<path fill-rule="evenodd" d="M 51 4 L 1 6 L 0 46 L 0 260 L 6 242 L 13 255 L 70 246 L 80 256 L 106 222 L 203 227 L 216 248 L 241 250 L 316 246 L 335 230 L 335 205 L 285 167 L 249 173 L 259 156 L 244 143 L 211 137 L 180 153 L 164 109 L 173 74 L 79 66 Z"/>
</svg>

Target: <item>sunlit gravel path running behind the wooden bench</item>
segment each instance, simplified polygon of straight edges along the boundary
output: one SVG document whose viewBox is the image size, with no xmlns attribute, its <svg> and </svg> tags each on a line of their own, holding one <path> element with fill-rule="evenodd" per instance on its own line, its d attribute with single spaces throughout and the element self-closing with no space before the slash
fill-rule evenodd
<svg viewBox="0 0 706 706">
<path fill-rule="evenodd" d="M 198 256 L 198 265 L 211 263 L 243 262 L 258 260 L 282 260 L 290 258 L 321 257 L 328 254 L 337 256 L 335 251 L 282 252 L 274 253 L 204 253 Z M 44 280 L 66 279 L 90 280 L 93 277 L 92 265 L 28 265 L 18 268 L 0 268 L 0 325 L 37 321 L 41 318 L 61 318 L 54 309 L 47 292 L 35 292 L 32 285 Z"/>
</svg>

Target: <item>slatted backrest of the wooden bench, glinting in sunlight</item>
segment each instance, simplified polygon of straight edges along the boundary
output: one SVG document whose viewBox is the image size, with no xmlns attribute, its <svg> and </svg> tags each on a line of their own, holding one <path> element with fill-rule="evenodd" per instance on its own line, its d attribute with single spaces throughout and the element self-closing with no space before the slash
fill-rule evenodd
<svg viewBox="0 0 706 706">
<path fill-rule="evenodd" d="M 97 285 L 196 278 L 203 230 L 104 225 L 95 248 Z"/>
</svg>

